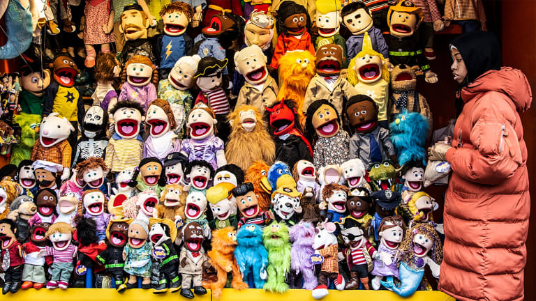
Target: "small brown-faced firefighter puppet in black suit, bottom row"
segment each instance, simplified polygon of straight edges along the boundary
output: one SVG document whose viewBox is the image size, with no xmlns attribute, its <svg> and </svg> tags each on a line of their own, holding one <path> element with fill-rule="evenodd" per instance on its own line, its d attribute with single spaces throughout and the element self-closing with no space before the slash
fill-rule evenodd
<svg viewBox="0 0 536 301">
<path fill-rule="evenodd" d="M 132 219 L 124 217 L 110 219 L 106 227 L 108 245 L 96 257 L 96 260 L 104 265 L 105 272 L 114 278 L 116 289 L 119 289 L 125 281 L 123 248 L 128 240 L 128 225 L 131 222 Z"/>
</svg>

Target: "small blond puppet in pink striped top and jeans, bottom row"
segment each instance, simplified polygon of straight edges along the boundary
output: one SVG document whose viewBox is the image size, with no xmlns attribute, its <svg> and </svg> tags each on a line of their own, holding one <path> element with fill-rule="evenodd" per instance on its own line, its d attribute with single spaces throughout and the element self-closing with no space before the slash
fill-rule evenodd
<svg viewBox="0 0 536 301">
<path fill-rule="evenodd" d="M 37 255 L 54 258 L 50 266 L 52 277 L 47 282 L 48 289 L 66 289 L 69 286 L 70 275 L 74 269 L 73 258 L 76 257 L 78 250 L 71 241 L 74 230 L 69 224 L 62 222 L 54 223 L 48 228 L 46 236 L 52 242 L 52 247 L 46 246 Z"/>
</svg>

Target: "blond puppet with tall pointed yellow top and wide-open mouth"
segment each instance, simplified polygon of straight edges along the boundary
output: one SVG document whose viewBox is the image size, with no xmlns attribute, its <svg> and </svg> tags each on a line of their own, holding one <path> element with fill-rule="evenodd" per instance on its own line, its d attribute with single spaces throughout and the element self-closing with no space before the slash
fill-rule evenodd
<svg viewBox="0 0 536 301">
<path fill-rule="evenodd" d="M 389 68 L 382 54 L 372 48 L 371 38 L 364 33 L 363 49 L 348 65 L 348 82 L 360 94 L 368 95 L 378 105 L 378 124 L 387 128 Z"/>
</svg>

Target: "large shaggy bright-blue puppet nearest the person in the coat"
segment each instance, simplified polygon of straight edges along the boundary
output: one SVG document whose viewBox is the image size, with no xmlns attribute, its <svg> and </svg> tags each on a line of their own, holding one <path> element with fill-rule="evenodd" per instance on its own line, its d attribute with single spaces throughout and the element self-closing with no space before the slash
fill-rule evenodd
<svg viewBox="0 0 536 301">
<path fill-rule="evenodd" d="M 389 124 L 389 134 L 399 157 L 400 166 L 412 160 L 426 164 L 425 145 L 428 129 L 429 123 L 426 117 L 405 110 L 396 115 L 396 119 Z"/>
</svg>

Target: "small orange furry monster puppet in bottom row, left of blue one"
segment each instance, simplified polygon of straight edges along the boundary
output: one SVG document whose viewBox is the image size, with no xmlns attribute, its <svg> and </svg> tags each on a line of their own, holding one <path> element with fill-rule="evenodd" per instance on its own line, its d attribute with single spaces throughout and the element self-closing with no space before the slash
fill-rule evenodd
<svg viewBox="0 0 536 301">
<path fill-rule="evenodd" d="M 220 298 L 221 290 L 227 282 L 227 273 L 231 272 L 232 288 L 237 290 L 248 288 L 248 284 L 242 280 L 237 259 L 234 258 L 234 248 L 237 247 L 237 231 L 234 227 L 228 226 L 212 231 L 211 246 L 212 249 L 208 253 L 209 263 L 218 272 L 218 281 L 203 284 L 203 286 L 212 290 L 214 298 Z"/>
</svg>

